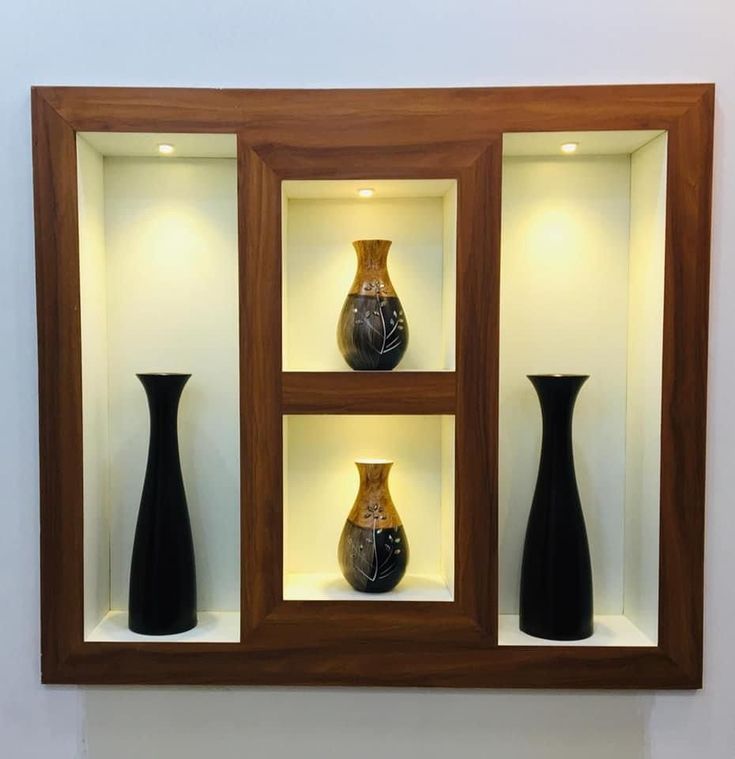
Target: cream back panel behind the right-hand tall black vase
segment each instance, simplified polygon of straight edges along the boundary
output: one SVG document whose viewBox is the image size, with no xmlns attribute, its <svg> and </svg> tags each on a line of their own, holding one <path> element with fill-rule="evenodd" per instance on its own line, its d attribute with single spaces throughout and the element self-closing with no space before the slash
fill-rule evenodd
<svg viewBox="0 0 735 759">
<path fill-rule="evenodd" d="M 630 159 L 506 158 L 500 322 L 500 612 L 517 613 L 541 414 L 527 374 L 589 374 L 574 418 L 595 612 L 623 606 Z"/>
</svg>

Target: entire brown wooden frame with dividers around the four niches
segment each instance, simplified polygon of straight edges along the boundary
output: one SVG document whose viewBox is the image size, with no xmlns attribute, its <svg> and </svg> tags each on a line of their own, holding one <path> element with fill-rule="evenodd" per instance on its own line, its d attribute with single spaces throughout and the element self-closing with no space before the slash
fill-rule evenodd
<svg viewBox="0 0 735 759">
<path fill-rule="evenodd" d="M 43 681 L 699 687 L 713 107 L 712 85 L 34 88 Z M 499 647 L 502 133 L 615 129 L 669 135 L 659 643 Z M 79 131 L 237 134 L 238 643 L 84 641 Z M 458 181 L 456 371 L 283 372 L 280 330 L 274 338 L 272 329 L 281 320 L 281 181 L 371 177 Z M 282 600 L 282 417 L 303 413 L 455 415 L 454 602 Z"/>
</svg>

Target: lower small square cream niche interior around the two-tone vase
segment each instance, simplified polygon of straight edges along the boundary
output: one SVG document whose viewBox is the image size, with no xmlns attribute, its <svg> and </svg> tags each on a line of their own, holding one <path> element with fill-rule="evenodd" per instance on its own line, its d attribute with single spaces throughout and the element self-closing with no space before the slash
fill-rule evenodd
<svg viewBox="0 0 735 759">
<path fill-rule="evenodd" d="M 453 599 L 454 417 L 290 415 L 283 441 L 284 600 Z M 393 462 L 388 486 L 410 557 L 387 593 L 354 590 L 337 559 L 360 459 Z"/>
</svg>

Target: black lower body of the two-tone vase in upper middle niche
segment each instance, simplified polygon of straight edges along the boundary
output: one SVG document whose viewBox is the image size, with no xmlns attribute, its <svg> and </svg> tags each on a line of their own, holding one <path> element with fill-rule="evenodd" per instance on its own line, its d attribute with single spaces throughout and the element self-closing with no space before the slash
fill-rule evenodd
<svg viewBox="0 0 735 759">
<path fill-rule="evenodd" d="M 408 322 L 401 301 L 394 295 L 348 295 L 337 325 L 337 342 L 352 369 L 394 369 L 408 347 Z"/>
</svg>

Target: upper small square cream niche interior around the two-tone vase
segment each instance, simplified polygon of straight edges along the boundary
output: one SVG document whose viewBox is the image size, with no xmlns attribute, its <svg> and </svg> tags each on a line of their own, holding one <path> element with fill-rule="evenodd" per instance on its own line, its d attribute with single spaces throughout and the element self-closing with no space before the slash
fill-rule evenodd
<svg viewBox="0 0 735 759">
<path fill-rule="evenodd" d="M 283 368 L 350 371 L 337 322 L 355 240 L 390 240 L 388 272 L 410 330 L 397 371 L 455 366 L 457 182 L 288 180 L 282 184 Z"/>
</svg>

